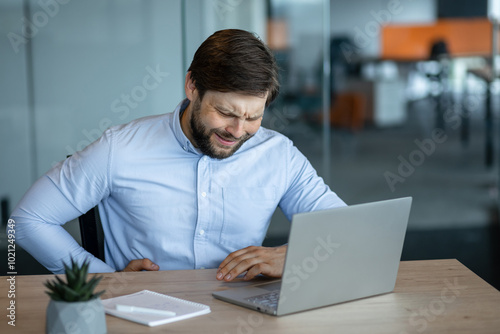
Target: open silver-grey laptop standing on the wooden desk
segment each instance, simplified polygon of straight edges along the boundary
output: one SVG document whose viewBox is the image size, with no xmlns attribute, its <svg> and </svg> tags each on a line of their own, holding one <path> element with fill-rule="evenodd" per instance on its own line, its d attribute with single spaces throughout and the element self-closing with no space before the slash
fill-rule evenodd
<svg viewBox="0 0 500 334">
<path fill-rule="evenodd" d="M 281 316 L 392 292 L 411 202 L 405 197 L 296 214 L 280 280 L 212 295 Z"/>
</svg>

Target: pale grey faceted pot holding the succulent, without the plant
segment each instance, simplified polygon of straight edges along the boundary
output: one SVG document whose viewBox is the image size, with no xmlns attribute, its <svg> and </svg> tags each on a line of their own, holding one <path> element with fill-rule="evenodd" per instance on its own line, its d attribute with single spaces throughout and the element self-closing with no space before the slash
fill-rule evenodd
<svg viewBox="0 0 500 334">
<path fill-rule="evenodd" d="M 47 306 L 45 332 L 60 333 L 106 333 L 106 315 L 101 299 L 86 302 L 62 302 L 50 300 Z"/>
</svg>

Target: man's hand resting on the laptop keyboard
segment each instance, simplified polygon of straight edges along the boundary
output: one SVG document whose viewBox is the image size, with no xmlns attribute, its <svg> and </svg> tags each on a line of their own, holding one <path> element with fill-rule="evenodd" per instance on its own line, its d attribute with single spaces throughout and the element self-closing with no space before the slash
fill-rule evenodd
<svg viewBox="0 0 500 334">
<path fill-rule="evenodd" d="M 243 279 L 249 280 L 259 274 L 281 277 L 285 265 L 287 245 L 279 247 L 249 246 L 229 254 L 217 269 L 217 279 L 231 281 L 247 272 Z"/>
</svg>

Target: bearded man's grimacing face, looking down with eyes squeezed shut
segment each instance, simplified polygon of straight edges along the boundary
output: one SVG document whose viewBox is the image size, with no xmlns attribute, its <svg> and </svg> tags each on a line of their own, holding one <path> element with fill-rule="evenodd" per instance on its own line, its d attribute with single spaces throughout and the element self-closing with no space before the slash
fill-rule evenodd
<svg viewBox="0 0 500 334">
<path fill-rule="evenodd" d="M 225 159 L 259 129 L 266 96 L 208 91 L 192 103 L 193 144 L 211 158 Z"/>
</svg>

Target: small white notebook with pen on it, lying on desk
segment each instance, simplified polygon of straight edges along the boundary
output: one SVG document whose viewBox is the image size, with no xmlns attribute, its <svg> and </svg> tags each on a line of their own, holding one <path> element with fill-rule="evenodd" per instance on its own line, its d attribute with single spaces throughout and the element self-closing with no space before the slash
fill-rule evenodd
<svg viewBox="0 0 500 334">
<path fill-rule="evenodd" d="M 207 305 L 149 290 L 142 290 L 130 295 L 103 299 L 102 304 L 106 313 L 110 315 L 151 327 L 210 313 L 210 307 Z M 122 312 L 116 310 L 116 305 L 129 305 L 171 311 L 175 312 L 175 316 Z"/>
</svg>

